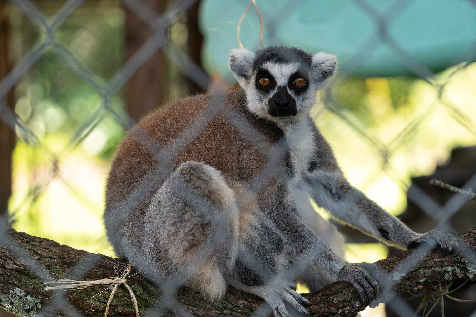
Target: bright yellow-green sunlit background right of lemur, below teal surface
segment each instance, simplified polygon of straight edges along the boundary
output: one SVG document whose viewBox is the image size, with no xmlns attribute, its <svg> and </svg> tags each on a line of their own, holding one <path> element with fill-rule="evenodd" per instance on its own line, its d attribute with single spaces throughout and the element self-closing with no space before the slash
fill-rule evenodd
<svg viewBox="0 0 476 317">
<path fill-rule="evenodd" d="M 476 65 L 460 68 L 457 65 L 436 76 L 446 83 L 443 102 L 438 90 L 420 79 L 350 78 L 367 87 L 367 98 L 359 97 L 361 108 L 343 108 L 352 104 L 352 96 L 336 87 L 332 97 L 341 104 L 331 100 L 327 105 L 326 96 L 311 113 L 350 183 L 391 214 L 405 210 L 411 177 L 431 174 L 446 162 L 452 149 L 476 144 L 476 128 L 470 124 L 475 119 L 469 116 L 474 113 L 476 92 L 468 85 L 476 82 Z M 455 71 L 448 79 L 448 73 Z M 363 88 L 359 84 L 347 87 Z M 405 90 L 398 91 L 399 87 Z M 336 111 L 345 113 L 354 128 Z M 458 117 L 458 111 L 466 118 Z"/>
</svg>

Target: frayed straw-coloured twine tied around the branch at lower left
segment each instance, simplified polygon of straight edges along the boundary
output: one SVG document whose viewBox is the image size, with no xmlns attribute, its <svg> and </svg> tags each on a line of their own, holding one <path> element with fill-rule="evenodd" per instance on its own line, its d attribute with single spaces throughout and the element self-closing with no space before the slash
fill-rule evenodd
<svg viewBox="0 0 476 317">
<path fill-rule="evenodd" d="M 52 281 L 45 282 L 45 284 L 62 284 L 58 286 L 48 286 L 45 287 L 44 290 L 53 290 L 53 289 L 84 289 L 89 286 L 93 285 L 107 285 L 111 284 L 110 286 L 114 286 L 112 289 L 111 295 L 109 295 L 109 300 L 108 304 L 106 305 L 106 311 L 104 312 L 104 317 L 107 317 L 109 314 L 109 305 L 111 304 L 112 298 L 114 298 L 114 294 L 116 294 L 116 291 L 119 287 L 119 285 L 124 285 L 127 290 L 129 290 L 130 294 L 130 299 L 132 300 L 132 304 L 134 304 L 134 308 L 136 308 L 136 317 L 139 316 L 139 308 L 137 306 L 137 299 L 136 296 L 134 295 L 134 292 L 130 288 L 129 285 L 127 285 L 127 277 L 130 274 L 130 271 L 132 270 L 132 266 L 130 265 L 130 262 L 127 264 L 126 269 L 122 271 L 122 276 L 119 278 L 114 278 L 114 279 L 102 279 L 102 280 L 68 280 L 68 279 L 53 279 Z"/>
</svg>

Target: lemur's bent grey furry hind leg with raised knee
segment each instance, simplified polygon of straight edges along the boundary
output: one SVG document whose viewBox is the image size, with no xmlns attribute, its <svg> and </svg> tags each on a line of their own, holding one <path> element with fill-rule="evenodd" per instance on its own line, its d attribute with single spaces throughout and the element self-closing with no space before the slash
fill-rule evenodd
<svg viewBox="0 0 476 317">
<path fill-rule="evenodd" d="M 167 273 L 165 280 L 174 278 L 218 299 L 235 262 L 237 217 L 234 193 L 220 172 L 185 162 L 160 187 L 144 216 L 146 258 Z"/>
</svg>

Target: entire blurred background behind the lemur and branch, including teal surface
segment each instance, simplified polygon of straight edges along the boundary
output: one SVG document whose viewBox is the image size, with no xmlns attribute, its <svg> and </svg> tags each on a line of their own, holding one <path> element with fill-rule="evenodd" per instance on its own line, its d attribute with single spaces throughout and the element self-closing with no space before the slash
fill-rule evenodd
<svg viewBox="0 0 476 317">
<path fill-rule="evenodd" d="M 476 188 L 476 2 L 257 4 L 265 46 L 338 56 L 339 72 L 311 114 L 349 181 L 418 232 L 476 227 L 475 201 L 428 185 L 438 177 Z M 204 93 L 213 81 L 233 84 L 228 54 L 238 47 L 237 24 L 248 5 L 0 0 L 0 212 L 13 227 L 113 254 L 102 212 L 119 141 L 152 109 Z M 241 40 L 258 49 L 253 8 Z M 395 252 L 336 225 L 346 235 L 347 261 Z M 474 285 L 464 289 L 461 298 L 476 298 Z M 471 305 L 446 309 L 470 316 Z M 387 309 L 401 316 L 393 314 Z"/>
</svg>

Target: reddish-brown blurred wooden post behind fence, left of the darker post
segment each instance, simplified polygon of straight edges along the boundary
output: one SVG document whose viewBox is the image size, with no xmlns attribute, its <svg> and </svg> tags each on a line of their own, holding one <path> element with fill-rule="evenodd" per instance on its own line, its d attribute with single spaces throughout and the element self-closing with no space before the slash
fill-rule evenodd
<svg viewBox="0 0 476 317">
<path fill-rule="evenodd" d="M 144 0 L 157 14 L 164 12 L 164 0 Z M 132 56 L 153 34 L 152 29 L 132 10 L 126 10 L 126 56 Z M 127 108 L 132 119 L 139 119 L 165 101 L 166 65 L 159 49 L 139 70 L 132 75 L 127 84 Z"/>
</svg>

